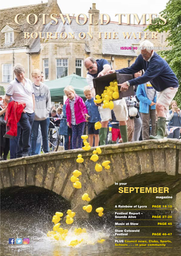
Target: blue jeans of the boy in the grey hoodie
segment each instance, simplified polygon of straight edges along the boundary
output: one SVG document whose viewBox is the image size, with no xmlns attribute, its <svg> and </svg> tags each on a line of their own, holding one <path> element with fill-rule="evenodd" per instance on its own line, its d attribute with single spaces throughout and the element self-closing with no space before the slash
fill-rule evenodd
<svg viewBox="0 0 181 256">
<path fill-rule="evenodd" d="M 38 128 L 41 128 L 42 132 L 42 141 L 43 141 L 43 151 L 45 153 L 49 152 L 49 143 L 48 143 L 48 129 L 49 129 L 49 117 L 42 121 L 34 121 L 32 126 L 32 136 L 31 136 L 31 152 L 30 155 L 33 156 L 36 154 L 36 140 L 38 137 Z"/>
</svg>

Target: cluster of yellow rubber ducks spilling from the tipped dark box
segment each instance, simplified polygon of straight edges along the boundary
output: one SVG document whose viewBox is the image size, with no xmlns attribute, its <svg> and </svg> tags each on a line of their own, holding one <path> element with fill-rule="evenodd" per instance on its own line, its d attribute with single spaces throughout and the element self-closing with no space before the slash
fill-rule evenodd
<svg viewBox="0 0 181 256">
<path fill-rule="evenodd" d="M 117 80 L 114 80 L 113 82 L 110 82 L 109 86 L 105 87 L 104 92 L 100 95 L 95 96 L 94 102 L 96 104 L 101 104 L 103 102 L 102 107 L 103 108 L 114 108 L 114 103 L 112 100 L 117 100 L 119 99 L 119 89 L 117 85 Z"/>
</svg>

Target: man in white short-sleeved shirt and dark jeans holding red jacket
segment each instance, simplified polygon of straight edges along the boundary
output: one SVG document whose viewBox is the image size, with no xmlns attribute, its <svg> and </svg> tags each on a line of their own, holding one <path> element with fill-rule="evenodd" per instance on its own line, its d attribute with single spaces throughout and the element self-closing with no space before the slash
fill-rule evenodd
<svg viewBox="0 0 181 256">
<path fill-rule="evenodd" d="M 21 114 L 21 119 L 19 120 L 21 132 L 16 154 L 16 158 L 18 158 L 21 156 L 29 156 L 35 101 L 32 82 L 25 78 L 25 69 L 23 66 L 21 64 L 16 64 L 13 71 L 16 78 L 8 85 L 8 89 L 5 93 L 5 102 L 9 103 L 12 98 L 15 102 L 26 104 L 25 109 Z"/>
</svg>

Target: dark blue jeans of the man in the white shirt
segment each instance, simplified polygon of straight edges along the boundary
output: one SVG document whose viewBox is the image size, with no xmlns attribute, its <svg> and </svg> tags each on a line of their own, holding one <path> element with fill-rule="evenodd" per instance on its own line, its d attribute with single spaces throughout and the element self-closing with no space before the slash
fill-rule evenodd
<svg viewBox="0 0 181 256">
<path fill-rule="evenodd" d="M 32 132 L 32 124 L 34 122 L 34 113 L 22 113 L 19 125 L 21 127 L 19 135 L 19 143 L 17 148 L 16 158 L 28 156 L 30 150 L 30 135 Z"/>
</svg>

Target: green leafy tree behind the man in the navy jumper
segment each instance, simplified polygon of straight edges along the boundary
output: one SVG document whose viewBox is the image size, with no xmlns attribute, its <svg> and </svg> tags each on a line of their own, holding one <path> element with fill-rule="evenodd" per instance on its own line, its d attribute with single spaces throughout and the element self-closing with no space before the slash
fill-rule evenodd
<svg viewBox="0 0 181 256">
<path fill-rule="evenodd" d="M 167 23 L 165 25 L 159 24 L 160 19 L 152 21 L 147 30 L 154 32 L 168 32 L 167 37 L 168 46 L 171 49 L 167 51 L 159 51 L 158 54 L 167 60 L 169 66 L 176 74 L 179 84 L 181 84 L 181 1 L 169 0 L 165 10 L 160 12 L 161 16 L 165 15 Z M 163 23 L 163 21 L 162 21 Z M 181 107 L 181 86 L 178 89 L 175 100 Z"/>
</svg>

